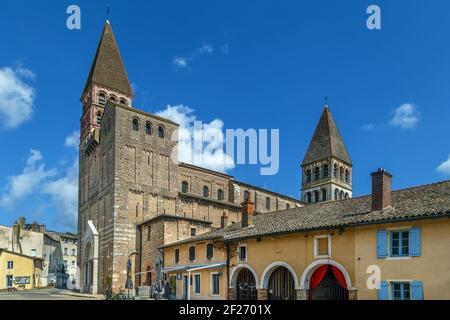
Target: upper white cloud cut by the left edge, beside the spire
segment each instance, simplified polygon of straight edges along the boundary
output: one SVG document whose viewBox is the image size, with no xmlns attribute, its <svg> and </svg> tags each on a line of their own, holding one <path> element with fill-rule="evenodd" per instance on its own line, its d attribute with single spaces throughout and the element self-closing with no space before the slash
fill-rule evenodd
<svg viewBox="0 0 450 320">
<path fill-rule="evenodd" d="M 0 124 L 6 129 L 14 129 L 31 119 L 34 107 L 35 89 L 25 80 L 35 78 L 31 70 L 25 68 L 0 69 Z"/>
</svg>

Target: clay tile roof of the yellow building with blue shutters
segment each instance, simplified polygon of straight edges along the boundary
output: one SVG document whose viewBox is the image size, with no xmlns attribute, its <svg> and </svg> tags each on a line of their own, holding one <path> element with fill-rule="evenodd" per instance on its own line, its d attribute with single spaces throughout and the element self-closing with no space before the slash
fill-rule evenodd
<svg viewBox="0 0 450 320">
<path fill-rule="evenodd" d="M 392 206 L 383 211 L 371 211 L 371 204 L 368 195 L 261 214 L 253 226 L 225 234 L 224 239 L 450 216 L 450 181 L 394 191 Z"/>
</svg>

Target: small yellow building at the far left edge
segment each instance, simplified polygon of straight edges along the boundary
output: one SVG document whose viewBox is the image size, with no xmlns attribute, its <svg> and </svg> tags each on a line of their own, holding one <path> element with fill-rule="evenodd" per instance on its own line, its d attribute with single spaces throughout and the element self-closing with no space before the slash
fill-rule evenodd
<svg viewBox="0 0 450 320">
<path fill-rule="evenodd" d="M 0 289 L 41 286 L 42 259 L 0 250 Z"/>
</svg>

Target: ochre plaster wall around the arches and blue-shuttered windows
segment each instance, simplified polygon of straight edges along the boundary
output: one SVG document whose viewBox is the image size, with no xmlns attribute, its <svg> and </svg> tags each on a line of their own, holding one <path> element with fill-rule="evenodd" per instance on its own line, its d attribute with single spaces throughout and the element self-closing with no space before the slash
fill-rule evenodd
<svg viewBox="0 0 450 320">
<path fill-rule="evenodd" d="M 420 257 L 378 259 L 378 230 L 411 227 L 421 228 Z M 314 238 L 323 235 L 329 235 L 331 238 L 331 255 L 328 258 L 314 255 Z M 424 299 L 450 299 L 449 243 L 450 220 L 446 218 L 348 228 L 341 234 L 338 230 L 332 230 L 266 237 L 259 241 L 251 239 L 240 242 L 241 245 L 247 245 L 247 261 L 239 262 L 234 258 L 230 278 L 233 283 L 240 268 L 248 267 L 256 273 L 258 288 L 267 288 L 271 271 L 278 266 L 285 266 L 293 272 L 296 288 L 304 289 L 308 288 L 309 284 L 306 281 L 302 282 L 302 276 L 308 279 L 315 268 L 321 264 L 331 263 L 339 266 L 344 276 L 348 275 L 349 288 L 358 290 L 358 299 L 375 300 L 378 298 L 378 292 L 367 287 L 367 279 L 370 276 L 367 268 L 379 266 L 381 280 L 422 281 Z M 208 263 L 205 259 L 205 245 L 206 242 L 196 244 L 197 254 L 194 264 Z M 188 246 L 187 244 L 179 246 L 179 265 L 190 263 Z M 165 267 L 174 265 L 174 249 L 164 250 Z M 224 254 L 218 253 L 217 250 L 215 258 L 225 261 Z M 203 279 L 209 282 L 209 278 L 205 277 L 202 275 L 202 290 L 205 290 L 206 295 L 210 284 L 204 283 Z M 222 298 L 225 297 L 226 292 L 223 292 Z"/>
</svg>

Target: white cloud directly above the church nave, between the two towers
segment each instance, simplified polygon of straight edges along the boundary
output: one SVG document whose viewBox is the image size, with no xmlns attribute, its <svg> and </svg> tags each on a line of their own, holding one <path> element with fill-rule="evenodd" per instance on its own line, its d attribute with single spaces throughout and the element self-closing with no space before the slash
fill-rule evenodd
<svg viewBox="0 0 450 320">
<path fill-rule="evenodd" d="M 178 160 L 221 172 L 233 169 L 234 161 L 223 148 L 223 121 L 214 119 L 210 123 L 201 123 L 193 112 L 184 105 L 168 105 L 165 110 L 157 112 L 157 115 L 180 125 L 176 133 Z"/>
</svg>

